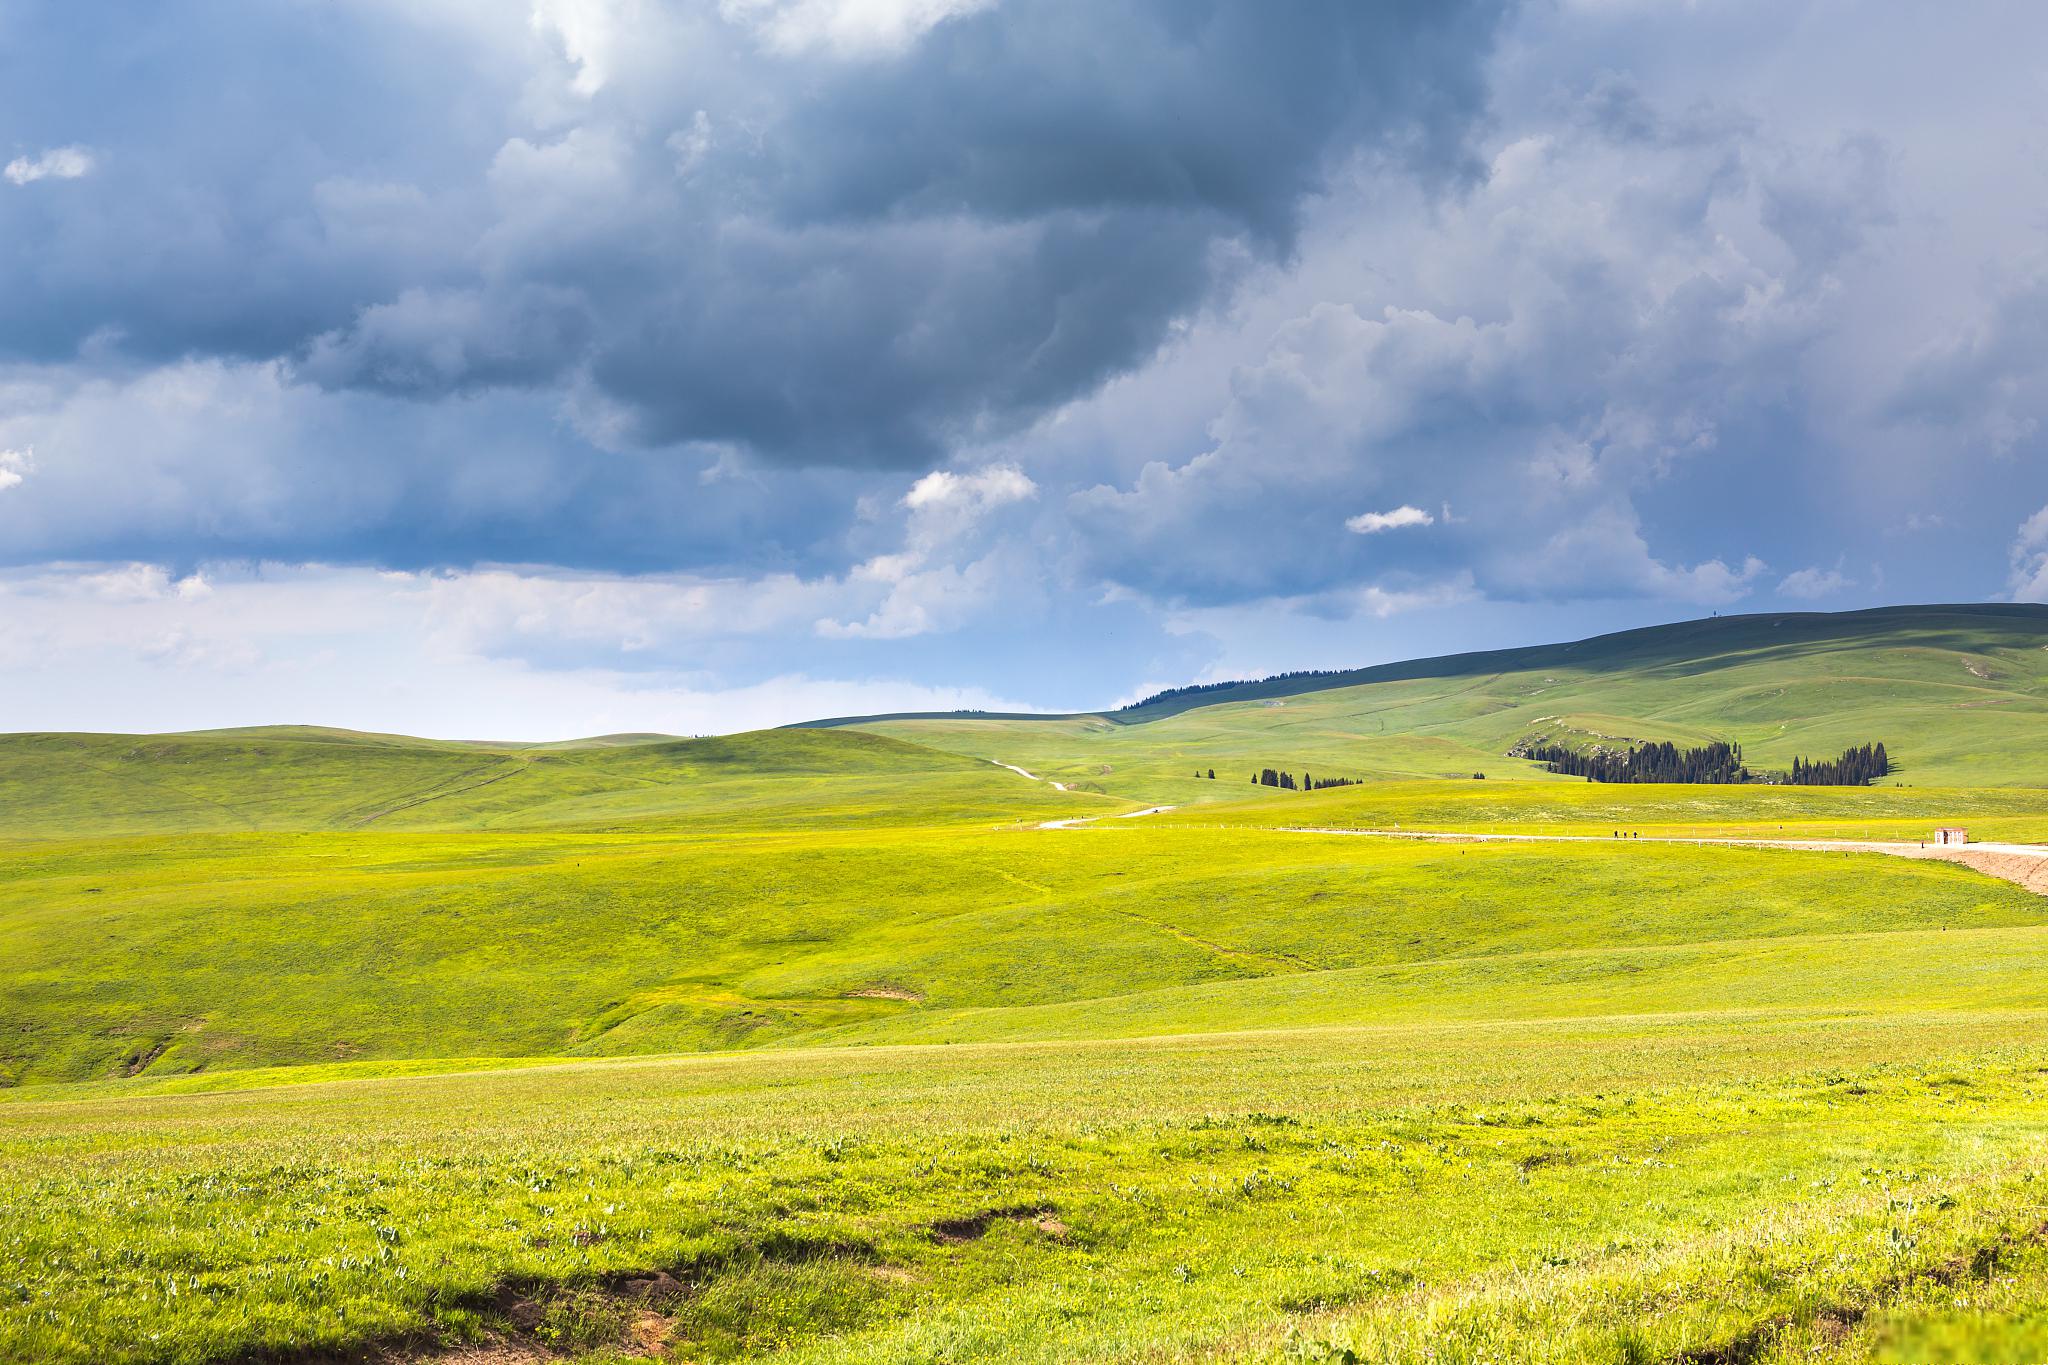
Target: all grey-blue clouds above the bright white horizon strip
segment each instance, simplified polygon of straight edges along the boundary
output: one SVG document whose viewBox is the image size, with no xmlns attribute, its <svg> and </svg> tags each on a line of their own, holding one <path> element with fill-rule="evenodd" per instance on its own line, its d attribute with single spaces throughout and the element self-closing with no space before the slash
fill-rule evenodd
<svg viewBox="0 0 2048 1365">
<path fill-rule="evenodd" d="M 1972 536 L 1995 585 L 2048 497 L 2011 458 L 2038 223 L 1985 192 L 2032 164 L 1987 113 L 2030 108 L 2017 57 L 1866 133 L 1825 25 L 1763 0 L 1012 0 L 864 43 L 717 0 L 221 0 L 129 6 L 121 72 L 88 8 L 0 0 L 0 166 L 98 158 L 0 180 L 0 450 L 35 450 L 0 559 L 813 579 L 901 553 L 907 475 L 1006 460 L 1032 555 L 934 573 L 1341 616 L 1841 553 L 1950 583 Z M 1874 14 L 1870 59 L 1933 25 Z M 1915 141 L 1944 100 L 1960 180 Z M 1966 456 L 1997 473 L 1927 479 Z M 1907 510 L 1948 548 L 1845 540 Z"/>
</svg>

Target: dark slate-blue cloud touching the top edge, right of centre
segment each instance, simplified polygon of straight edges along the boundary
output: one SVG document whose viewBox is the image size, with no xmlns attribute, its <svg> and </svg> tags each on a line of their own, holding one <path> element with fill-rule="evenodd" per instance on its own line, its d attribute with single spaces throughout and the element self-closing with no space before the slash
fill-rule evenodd
<svg viewBox="0 0 2048 1365">
<path fill-rule="evenodd" d="M 1184 211 L 1284 241 L 1333 139 L 1458 153 L 1499 8 L 991 8 L 938 27 L 887 78 L 852 72 L 795 106 L 780 199 L 819 219 Z"/>
</svg>

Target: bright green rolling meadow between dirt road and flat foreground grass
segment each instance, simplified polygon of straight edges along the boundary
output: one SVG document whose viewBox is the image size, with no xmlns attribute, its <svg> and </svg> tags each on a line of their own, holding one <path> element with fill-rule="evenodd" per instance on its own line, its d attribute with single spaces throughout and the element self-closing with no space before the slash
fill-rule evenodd
<svg viewBox="0 0 2048 1365">
<path fill-rule="evenodd" d="M 2019 888 L 1876 855 L 1122 821 L 80 839 L 14 845 L 0 868 L 0 956 L 18 964 L 0 978 L 0 1056 L 27 1083 L 817 1031 L 1337 1023 L 1456 1013 L 1454 999 L 1497 986 L 1526 995 L 1495 1013 L 1597 1013 L 1612 1001 L 1595 978 L 1634 980 L 1636 1001 L 1659 982 L 1651 1001 L 1692 1009 L 1729 974 L 1671 950 L 1724 960 L 1737 945 L 1780 954 L 1753 980 L 1853 1005 L 1855 990 L 1821 984 L 1845 935 L 1911 960 L 1927 939 L 1946 952 L 2013 931 L 1995 958 L 2025 976 L 2048 921 Z"/>
</svg>

